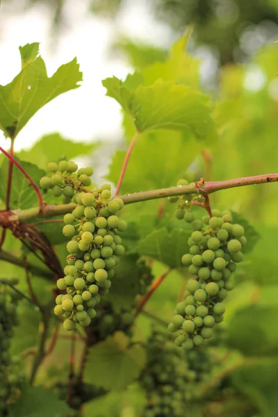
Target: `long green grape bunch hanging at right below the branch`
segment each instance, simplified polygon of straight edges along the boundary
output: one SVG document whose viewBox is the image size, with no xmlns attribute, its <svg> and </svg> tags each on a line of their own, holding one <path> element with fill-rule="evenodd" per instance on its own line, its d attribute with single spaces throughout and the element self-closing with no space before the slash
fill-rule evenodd
<svg viewBox="0 0 278 417">
<path fill-rule="evenodd" d="M 234 288 L 231 275 L 236 263 L 243 260 L 241 249 L 247 243 L 244 228 L 232 223 L 229 211 L 213 210 L 213 217 L 191 224 L 189 254 L 184 254 L 181 262 L 192 277 L 168 326 L 176 345 L 188 350 L 211 338 L 215 324 L 222 322 L 223 300 Z"/>
</svg>

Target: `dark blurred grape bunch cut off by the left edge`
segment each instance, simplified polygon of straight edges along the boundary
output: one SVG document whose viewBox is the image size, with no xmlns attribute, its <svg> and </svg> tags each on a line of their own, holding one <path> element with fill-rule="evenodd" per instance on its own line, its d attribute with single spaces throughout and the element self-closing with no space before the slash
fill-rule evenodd
<svg viewBox="0 0 278 417">
<path fill-rule="evenodd" d="M 15 283 L 13 283 L 15 284 Z M 0 286 L 0 415 L 8 416 L 8 408 L 20 395 L 22 375 L 17 358 L 10 356 L 10 339 L 13 327 L 18 325 L 17 293 L 8 286 Z"/>
</svg>

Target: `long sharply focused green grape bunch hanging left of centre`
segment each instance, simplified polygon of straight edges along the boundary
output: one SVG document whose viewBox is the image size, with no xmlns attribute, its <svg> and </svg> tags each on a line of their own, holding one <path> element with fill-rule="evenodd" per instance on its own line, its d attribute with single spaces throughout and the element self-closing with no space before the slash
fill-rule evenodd
<svg viewBox="0 0 278 417">
<path fill-rule="evenodd" d="M 57 281 L 58 289 L 67 294 L 56 297 L 54 309 L 65 318 L 63 325 L 69 331 L 76 323 L 88 326 L 95 318 L 95 306 L 108 293 L 114 268 L 125 252 L 119 233 L 126 229 L 126 222 L 116 215 L 124 203 L 111 198 L 110 184 L 92 193 L 79 193 L 75 201 L 76 208 L 64 216 L 63 234 L 70 238 L 70 254 L 65 277 Z"/>
</svg>

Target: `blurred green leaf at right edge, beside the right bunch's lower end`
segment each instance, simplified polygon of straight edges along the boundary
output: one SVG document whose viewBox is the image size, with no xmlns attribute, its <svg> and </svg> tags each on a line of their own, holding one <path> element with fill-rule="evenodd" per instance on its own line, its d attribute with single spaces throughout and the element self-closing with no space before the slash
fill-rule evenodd
<svg viewBox="0 0 278 417">
<path fill-rule="evenodd" d="M 277 354 L 277 306 L 250 305 L 236 311 L 229 324 L 229 345 L 247 355 Z"/>
</svg>

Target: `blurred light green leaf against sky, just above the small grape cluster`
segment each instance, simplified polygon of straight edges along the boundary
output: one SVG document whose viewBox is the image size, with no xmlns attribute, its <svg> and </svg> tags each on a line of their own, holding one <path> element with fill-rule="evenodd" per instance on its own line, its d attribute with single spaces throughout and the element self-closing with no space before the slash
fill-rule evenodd
<svg viewBox="0 0 278 417">
<path fill-rule="evenodd" d="M 31 149 L 22 150 L 18 156 L 45 169 L 49 162 L 58 161 L 60 158 L 70 160 L 80 155 L 91 155 L 97 146 L 96 142 L 89 144 L 73 142 L 60 136 L 60 133 L 51 133 L 42 136 Z"/>
</svg>

